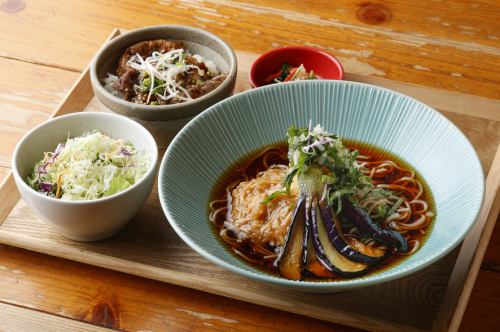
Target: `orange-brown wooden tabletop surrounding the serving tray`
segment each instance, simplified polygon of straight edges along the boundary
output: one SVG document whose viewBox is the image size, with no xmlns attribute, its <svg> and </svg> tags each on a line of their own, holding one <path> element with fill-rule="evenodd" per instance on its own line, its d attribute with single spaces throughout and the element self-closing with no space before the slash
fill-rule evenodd
<svg viewBox="0 0 500 332">
<path fill-rule="evenodd" d="M 491 0 L 0 0 L 0 179 L 117 26 L 197 26 L 251 53 L 311 45 L 352 73 L 500 99 L 499 18 Z M 353 330 L 3 245 L 0 280 L 0 330 Z M 497 223 L 461 329 L 497 328 L 499 298 Z"/>
</svg>

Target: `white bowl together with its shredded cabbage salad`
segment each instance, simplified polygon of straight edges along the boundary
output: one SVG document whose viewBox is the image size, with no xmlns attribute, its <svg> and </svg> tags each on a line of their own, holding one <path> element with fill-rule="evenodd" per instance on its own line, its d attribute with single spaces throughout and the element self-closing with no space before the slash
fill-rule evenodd
<svg viewBox="0 0 500 332">
<path fill-rule="evenodd" d="M 14 150 L 12 173 L 34 213 L 65 237 L 87 242 L 113 236 L 133 219 L 153 189 L 157 160 L 153 136 L 136 121 L 77 112 L 27 133 Z"/>
</svg>

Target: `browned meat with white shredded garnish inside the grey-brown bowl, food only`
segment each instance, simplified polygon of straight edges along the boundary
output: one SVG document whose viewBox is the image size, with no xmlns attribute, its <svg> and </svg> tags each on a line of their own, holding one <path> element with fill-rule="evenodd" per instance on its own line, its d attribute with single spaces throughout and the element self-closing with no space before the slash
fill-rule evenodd
<svg viewBox="0 0 500 332">
<path fill-rule="evenodd" d="M 156 39 L 136 43 L 120 57 L 116 75 L 108 73 L 105 89 L 145 105 L 178 104 L 215 90 L 227 74 L 182 42 Z"/>
</svg>

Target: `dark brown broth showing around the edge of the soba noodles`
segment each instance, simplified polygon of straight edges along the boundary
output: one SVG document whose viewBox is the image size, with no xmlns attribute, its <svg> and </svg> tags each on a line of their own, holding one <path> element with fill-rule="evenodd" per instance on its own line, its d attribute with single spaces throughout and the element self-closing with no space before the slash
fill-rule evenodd
<svg viewBox="0 0 500 332">
<path fill-rule="evenodd" d="M 415 177 L 417 180 L 420 181 L 424 188 L 424 193 L 423 196 L 421 197 L 422 200 L 426 201 L 429 204 L 429 211 L 432 211 L 434 213 L 434 218 L 430 222 L 430 224 L 426 227 L 426 233 L 425 235 L 419 235 L 416 236 L 415 238 L 418 238 L 420 240 L 420 247 L 425 245 L 426 239 L 428 238 L 430 232 L 432 231 L 432 228 L 434 227 L 434 220 L 436 219 L 436 209 L 435 209 L 435 203 L 434 203 L 434 198 L 432 196 L 430 187 L 427 185 L 427 183 L 424 181 L 422 176 L 405 160 L 402 158 L 398 157 L 397 155 L 388 152 L 384 149 L 375 147 L 371 144 L 366 144 L 363 142 L 355 141 L 355 140 L 348 140 L 348 139 L 343 139 L 343 143 L 345 146 L 347 146 L 351 150 L 358 150 L 360 154 L 362 155 L 367 155 L 373 158 L 373 160 L 391 160 L 394 163 L 396 163 L 399 167 L 404 168 L 406 170 L 411 170 L 415 172 Z M 212 189 L 211 195 L 210 195 L 210 201 L 217 200 L 217 199 L 223 199 L 226 198 L 226 187 L 240 179 L 244 176 L 243 174 L 246 172 L 246 174 L 249 176 L 249 178 L 255 178 L 257 174 L 261 171 L 264 170 L 264 167 L 262 166 L 262 157 L 256 158 L 255 157 L 261 153 L 263 150 L 273 147 L 279 149 L 279 151 L 283 154 L 284 158 L 274 158 L 274 160 L 271 160 L 269 163 L 270 165 L 274 164 L 283 164 L 287 165 L 288 164 L 288 158 L 287 158 L 287 152 L 288 152 L 288 145 L 286 142 L 279 142 L 276 144 L 270 144 L 268 146 L 264 146 L 258 150 L 252 151 L 248 153 L 247 155 L 243 156 L 236 162 L 234 162 L 217 180 L 217 183 L 215 184 L 214 188 Z M 273 159 L 273 158 L 271 158 Z M 209 209 L 210 210 L 210 209 Z M 210 212 L 210 211 L 209 211 Z M 221 215 L 222 218 L 222 215 Z M 222 220 L 221 220 L 222 221 Z M 243 258 L 238 256 L 237 254 L 234 253 L 232 250 L 231 246 L 226 243 L 224 240 L 221 239 L 219 236 L 219 228 L 212 224 L 212 231 L 214 233 L 214 236 L 216 236 L 219 241 L 221 242 L 221 245 L 228 250 L 232 255 L 238 257 L 238 259 L 241 259 L 242 261 L 245 261 Z M 405 255 L 393 255 L 390 256 L 388 259 L 384 260 L 383 262 L 374 265 L 373 267 L 370 268 L 370 270 L 363 274 L 362 277 L 366 275 L 374 275 L 378 273 L 382 273 L 399 263 L 401 263 L 403 260 L 405 260 L 409 256 Z M 245 261 L 247 262 L 247 261 Z M 253 264 L 251 262 L 247 262 L 249 265 L 251 265 L 254 268 L 257 268 L 258 270 L 279 276 L 279 272 L 277 268 L 272 267 L 272 266 L 261 266 L 258 264 Z M 305 275 L 302 278 L 303 280 L 306 281 L 314 281 L 314 282 L 329 282 L 329 281 L 338 281 L 338 280 L 353 280 L 355 278 L 345 278 L 345 277 L 334 277 L 334 278 L 322 278 L 322 277 L 316 277 L 314 275 Z"/>
</svg>

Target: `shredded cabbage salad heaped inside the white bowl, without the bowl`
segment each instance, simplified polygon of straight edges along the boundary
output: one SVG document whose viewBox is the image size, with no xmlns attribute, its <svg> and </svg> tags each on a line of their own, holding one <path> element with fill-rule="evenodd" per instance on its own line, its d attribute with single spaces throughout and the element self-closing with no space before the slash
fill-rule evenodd
<svg viewBox="0 0 500 332">
<path fill-rule="evenodd" d="M 26 182 L 47 196 L 71 201 L 125 190 L 144 176 L 150 163 L 146 151 L 98 131 L 68 138 L 44 155 Z"/>
</svg>

